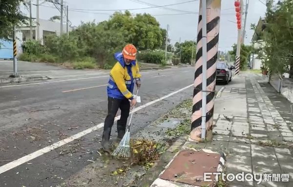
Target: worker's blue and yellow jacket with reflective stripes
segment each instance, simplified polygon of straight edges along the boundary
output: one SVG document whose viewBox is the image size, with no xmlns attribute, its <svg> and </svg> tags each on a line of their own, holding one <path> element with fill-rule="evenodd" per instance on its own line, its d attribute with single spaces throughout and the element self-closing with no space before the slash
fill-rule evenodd
<svg viewBox="0 0 293 187">
<path fill-rule="evenodd" d="M 132 99 L 136 80 L 140 80 L 138 64 L 133 60 L 130 65 L 126 65 L 122 52 L 115 53 L 118 61 L 110 71 L 110 78 L 107 86 L 108 97 L 117 99 Z"/>
</svg>

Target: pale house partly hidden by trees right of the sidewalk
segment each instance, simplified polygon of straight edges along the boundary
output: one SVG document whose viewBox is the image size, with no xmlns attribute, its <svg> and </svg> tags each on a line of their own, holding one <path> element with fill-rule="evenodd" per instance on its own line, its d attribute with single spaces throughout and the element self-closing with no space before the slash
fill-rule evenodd
<svg viewBox="0 0 293 187">
<path fill-rule="evenodd" d="M 266 45 L 265 41 L 261 39 L 262 31 L 265 28 L 266 28 L 265 19 L 259 18 L 259 21 L 256 26 L 256 31 L 254 32 L 254 34 L 252 36 L 252 40 L 251 40 L 251 43 L 252 43 L 254 49 L 259 49 L 259 48 L 262 48 Z M 261 66 L 262 66 L 262 59 L 258 58 L 257 54 L 252 54 L 251 61 L 250 61 L 251 69 L 260 70 Z"/>
</svg>

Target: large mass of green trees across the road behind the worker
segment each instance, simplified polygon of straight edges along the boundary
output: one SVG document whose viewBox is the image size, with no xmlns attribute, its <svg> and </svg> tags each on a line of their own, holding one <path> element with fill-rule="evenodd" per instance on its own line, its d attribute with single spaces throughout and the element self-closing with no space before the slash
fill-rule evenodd
<svg viewBox="0 0 293 187">
<path fill-rule="evenodd" d="M 26 60 L 73 63 L 77 69 L 111 69 L 116 63 L 113 54 L 122 51 L 127 43 L 134 44 L 139 50 L 158 49 L 163 45 L 164 33 L 166 36 L 166 30 L 161 29 L 160 24 L 149 14 L 133 17 L 129 11 L 115 12 L 108 21 L 81 23 L 69 33 L 69 37 L 66 34 L 45 36 L 44 46 L 36 41 L 27 41 L 23 46 L 27 54 L 22 57 Z M 91 57 L 95 62 L 84 60 L 84 57 Z M 143 52 L 141 59 L 147 63 L 166 65 L 163 51 Z"/>
</svg>

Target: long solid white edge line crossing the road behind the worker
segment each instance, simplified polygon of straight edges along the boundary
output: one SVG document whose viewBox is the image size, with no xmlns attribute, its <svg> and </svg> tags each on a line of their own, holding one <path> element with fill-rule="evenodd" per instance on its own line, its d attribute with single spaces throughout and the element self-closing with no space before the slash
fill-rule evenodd
<svg viewBox="0 0 293 187">
<path fill-rule="evenodd" d="M 170 96 L 172 96 L 174 94 L 177 94 L 177 93 L 179 93 L 181 91 L 184 91 L 184 90 L 186 90 L 186 89 L 188 89 L 188 88 L 190 88 L 192 86 L 193 86 L 193 84 L 191 84 L 191 85 L 189 85 L 187 87 L 184 87 L 184 88 L 182 88 L 180 90 L 177 90 L 175 92 L 172 92 L 170 94 L 167 94 L 167 95 L 165 95 L 163 97 L 160 97 L 160 98 L 158 98 L 156 100 L 150 101 L 150 102 L 148 102 L 148 103 L 146 103 L 146 104 L 144 104 L 142 106 L 137 107 L 132 112 L 130 112 L 130 114 L 135 113 L 135 112 L 137 112 L 137 111 L 139 111 L 139 110 L 141 110 L 143 108 L 146 108 L 147 106 L 149 106 L 151 104 L 154 104 L 154 103 L 159 102 L 159 101 L 161 101 L 163 99 L 166 99 L 167 97 L 170 97 Z M 115 117 L 114 121 L 117 121 L 119 118 L 120 118 L 120 115 Z M 44 147 L 44 148 L 42 148 L 42 149 L 40 149 L 38 151 L 35 151 L 35 152 L 31 153 L 31 154 L 28 154 L 28 155 L 26 155 L 24 157 L 21 157 L 20 159 L 17 159 L 17 160 L 15 160 L 13 162 L 10 162 L 10 163 L 7 163 L 5 165 L 2 165 L 2 166 L 0 166 L 0 174 L 4 173 L 4 172 L 6 172 L 6 171 L 8 171 L 10 169 L 13 169 L 13 168 L 15 168 L 15 167 L 17 167 L 17 166 L 19 166 L 21 164 L 24 164 L 24 163 L 26 163 L 28 161 L 31 161 L 31 160 L 33 160 L 33 159 L 35 159 L 37 157 L 40 157 L 45 153 L 48 153 L 48 152 L 50 152 L 50 151 L 52 151 L 54 149 L 57 149 L 58 147 L 61 147 L 61 146 L 65 145 L 66 143 L 69 143 L 69 142 L 71 142 L 73 140 L 81 138 L 84 135 L 87 135 L 87 134 L 89 134 L 89 133 L 91 133 L 91 132 L 93 132 L 95 130 L 98 130 L 98 129 L 102 128 L 103 126 L 104 126 L 104 123 L 100 123 L 100 124 L 95 125 L 95 126 L 93 126 L 91 128 L 88 128 L 88 129 L 86 129 L 86 130 L 84 130 L 82 132 L 79 132 L 79 133 L 77 133 L 75 135 L 72 135 L 72 136 L 70 136 L 70 137 L 68 137 L 66 139 L 60 140 L 60 141 L 58 141 L 56 143 L 53 143 L 52 145 L 49 145 L 49 146 Z"/>
</svg>

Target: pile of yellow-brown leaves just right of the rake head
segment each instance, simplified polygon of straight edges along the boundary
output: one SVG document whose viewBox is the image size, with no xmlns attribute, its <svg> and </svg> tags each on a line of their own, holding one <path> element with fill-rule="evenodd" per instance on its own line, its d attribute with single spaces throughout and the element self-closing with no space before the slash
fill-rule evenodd
<svg viewBox="0 0 293 187">
<path fill-rule="evenodd" d="M 158 144 L 154 141 L 140 139 L 130 140 L 131 145 L 131 164 L 145 165 L 146 168 L 159 159 L 161 149 L 164 145 Z"/>
</svg>

